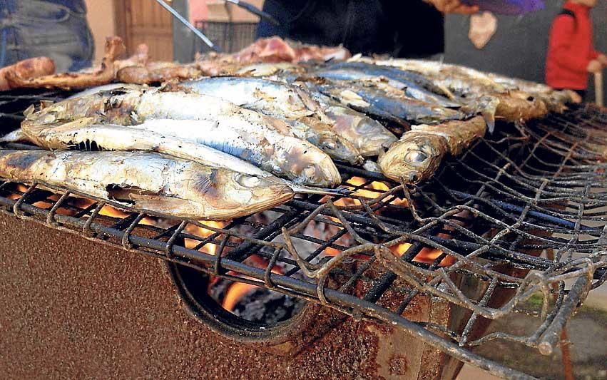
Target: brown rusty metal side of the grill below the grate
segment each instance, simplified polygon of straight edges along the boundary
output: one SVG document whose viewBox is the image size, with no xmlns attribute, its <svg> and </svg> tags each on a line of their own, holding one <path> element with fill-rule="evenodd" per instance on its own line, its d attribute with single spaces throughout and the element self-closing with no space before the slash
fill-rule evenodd
<svg viewBox="0 0 607 380">
<path fill-rule="evenodd" d="M 2 379 L 377 379 L 387 345 L 392 374 L 419 369 L 423 344 L 351 318 L 295 357 L 235 344 L 181 309 L 159 260 L 7 215 L 0 231 Z"/>
</svg>

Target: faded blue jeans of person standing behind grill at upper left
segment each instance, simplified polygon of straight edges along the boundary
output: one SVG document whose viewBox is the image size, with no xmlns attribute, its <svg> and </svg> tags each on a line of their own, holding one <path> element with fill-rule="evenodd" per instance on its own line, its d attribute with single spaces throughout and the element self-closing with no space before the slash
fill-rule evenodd
<svg viewBox="0 0 607 380">
<path fill-rule="evenodd" d="M 91 66 L 95 45 L 83 0 L 0 0 L 0 67 L 36 56 L 56 71 Z"/>
</svg>

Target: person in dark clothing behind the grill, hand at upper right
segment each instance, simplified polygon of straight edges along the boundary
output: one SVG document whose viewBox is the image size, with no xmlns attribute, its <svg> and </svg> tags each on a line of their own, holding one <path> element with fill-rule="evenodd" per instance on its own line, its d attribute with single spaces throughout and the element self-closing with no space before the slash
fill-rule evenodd
<svg viewBox="0 0 607 380">
<path fill-rule="evenodd" d="M 444 52 L 443 13 L 478 11 L 459 0 L 265 0 L 263 10 L 280 26 L 262 20 L 258 37 L 407 58 Z"/>
</svg>

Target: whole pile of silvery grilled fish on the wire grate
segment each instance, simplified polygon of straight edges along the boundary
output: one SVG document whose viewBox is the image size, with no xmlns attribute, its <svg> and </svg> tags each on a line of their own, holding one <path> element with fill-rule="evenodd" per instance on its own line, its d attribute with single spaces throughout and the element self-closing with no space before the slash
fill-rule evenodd
<svg viewBox="0 0 607 380">
<path fill-rule="evenodd" d="M 0 141 L 44 150 L 0 150 L 0 177 L 158 215 L 231 220 L 296 193 L 339 192 L 337 161 L 419 183 L 496 119 L 524 123 L 573 101 L 462 66 L 360 56 L 231 63 L 222 76 L 151 84 L 32 106 Z"/>
</svg>

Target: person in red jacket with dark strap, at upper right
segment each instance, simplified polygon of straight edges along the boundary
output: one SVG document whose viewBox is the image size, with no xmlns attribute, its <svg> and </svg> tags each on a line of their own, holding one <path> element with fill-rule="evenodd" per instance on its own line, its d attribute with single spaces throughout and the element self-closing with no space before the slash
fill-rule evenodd
<svg viewBox="0 0 607 380">
<path fill-rule="evenodd" d="M 607 66 L 607 57 L 594 49 L 590 10 L 596 0 L 568 0 L 552 24 L 546 57 L 546 84 L 576 91 L 582 98 L 588 73 Z"/>
</svg>

